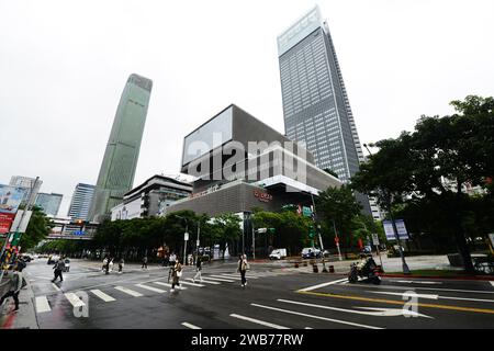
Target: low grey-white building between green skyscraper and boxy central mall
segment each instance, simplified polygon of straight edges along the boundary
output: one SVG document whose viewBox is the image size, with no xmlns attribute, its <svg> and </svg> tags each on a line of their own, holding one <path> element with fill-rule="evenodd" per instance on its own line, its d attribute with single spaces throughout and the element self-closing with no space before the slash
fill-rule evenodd
<svg viewBox="0 0 494 351">
<path fill-rule="evenodd" d="M 176 201 L 188 197 L 192 184 L 165 176 L 154 176 L 125 193 L 123 202 L 111 210 L 112 220 L 164 216 Z"/>
</svg>

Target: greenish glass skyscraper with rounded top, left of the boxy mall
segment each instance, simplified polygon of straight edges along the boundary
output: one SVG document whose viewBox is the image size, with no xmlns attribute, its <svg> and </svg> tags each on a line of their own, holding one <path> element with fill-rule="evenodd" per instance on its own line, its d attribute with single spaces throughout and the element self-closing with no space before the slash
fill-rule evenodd
<svg viewBox="0 0 494 351">
<path fill-rule="evenodd" d="M 90 219 L 101 222 L 132 189 L 153 81 L 131 75 L 122 92 L 98 177 Z"/>
</svg>

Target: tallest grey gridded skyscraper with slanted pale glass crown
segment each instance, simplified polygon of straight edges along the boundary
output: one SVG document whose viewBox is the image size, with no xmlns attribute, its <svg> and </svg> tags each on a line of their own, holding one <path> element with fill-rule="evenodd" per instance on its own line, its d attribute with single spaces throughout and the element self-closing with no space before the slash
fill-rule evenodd
<svg viewBox="0 0 494 351">
<path fill-rule="evenodd" d="M 348 182 L 363 154 L 329 29 L 318 7 L 278 36 L 278 56 L 287 136 L 305 143 L 317 167 Z M 370 215 L 367 196 L 357 197 Z"/>
</svg>

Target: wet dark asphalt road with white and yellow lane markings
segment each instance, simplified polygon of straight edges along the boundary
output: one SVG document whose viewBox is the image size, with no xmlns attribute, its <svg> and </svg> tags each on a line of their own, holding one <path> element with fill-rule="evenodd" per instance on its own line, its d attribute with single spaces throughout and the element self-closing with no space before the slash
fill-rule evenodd
<svg viewBox="0 0 494 351">
<path fill-rule="evenodd" d="M 490 281 L 349 284 L 343 275 L 266 262 L 251 263 L 242 287 L 232 262 L 205 265 L 204 282 L 195 285 L 187 267 L 183 290 L 170 293 L 168 268 L 127 264 L 123 274 L 105 275 L 99 267 L 72 260 L 64 282 L 53 284 L 46 259 L 27 265 L 40 328 L 494 328 Z"/>
</svg>

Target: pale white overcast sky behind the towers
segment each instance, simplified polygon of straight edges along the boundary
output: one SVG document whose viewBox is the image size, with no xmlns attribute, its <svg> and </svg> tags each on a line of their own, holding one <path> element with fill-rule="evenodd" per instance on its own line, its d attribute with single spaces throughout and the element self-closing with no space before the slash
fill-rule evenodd
<svg viewBox="0 0 494 351">
<path fill-rule="evenodd" d="M 127 77 L 154 82 L 134 185 L 235 103 L 284 133 L 277 36 L 308 0 L 0 0 L 0 183 L 94 184 Z M 494 94 L 494 1 L 323 0 L 361 143 Z"/>
</svg>

